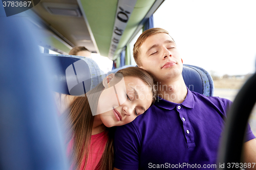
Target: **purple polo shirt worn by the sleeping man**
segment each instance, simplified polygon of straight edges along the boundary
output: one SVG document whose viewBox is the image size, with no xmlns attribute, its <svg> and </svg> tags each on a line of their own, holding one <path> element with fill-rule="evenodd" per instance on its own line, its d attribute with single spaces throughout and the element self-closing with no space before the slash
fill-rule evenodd
<svg viewBox="0 0 256 170">
<path fill-rule="evenodd" d="M 187 92 L 181 104 L 159 98 L 132 123 L 117 127 L 119 169 L 215 169 L 226 109 L 232 102 Z M 247 128 L 246 141 L 255 138 Z"/>
</svg>

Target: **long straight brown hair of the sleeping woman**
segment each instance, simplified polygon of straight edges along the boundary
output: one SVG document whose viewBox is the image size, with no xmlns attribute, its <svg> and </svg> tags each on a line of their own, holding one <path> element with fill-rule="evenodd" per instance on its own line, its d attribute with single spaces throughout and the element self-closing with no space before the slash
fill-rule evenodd
<svg viewBox="0 0 256 170">
<path fill-rule="evenodd" d="M 153 96 L 152 96 L 152 104 L 154 104 L 156 100 L 157 91 L 154 86 L 153 77 L 144 69 L 139 67 L 127 67 L 117 71 L 119 74 L 122 74 L 123 77 L 136 77 L 140 78 L 146 85 L 151 87 Z M 92 107 L 92 110 L 96 110 L 98 106 L 98 99 L 100 93 L 95 93 L 102 91 L 104 86 L 100 83 L 94 89 L 89 91 L 87 94 L 94 94 L 95 102 Z M 95 95 L 96 94 L 96 95 Z M 83 156 L 86 155 L 86 162 L 84 164 L 84 168 L 86 168 L 89 150 L 90 150 L 90 141 L 93 129 L 93 121 L 94 116 L 92 115 L 92 111 L 89 105 L 89 101 L 87 96 L 78 96 L 76 97 L 72 104 L 70 105 L 69 113 L 69 121 L 71 124 L 71 129 L 74 132 L 74 143 L 73 143 L 73 160 L 75 162 L 75 168 L 80 169 Z M 102 154 L 102 157 L 96 166 L 96 169 L 113 169 L 114 162 L 114 150 L 113 150 L 113 138 L 114 138 L 114 130 L 113 128 L 106 128 L 108 131 L 108 141 L 105 145 L 105 150 Z"/>
</svg>

